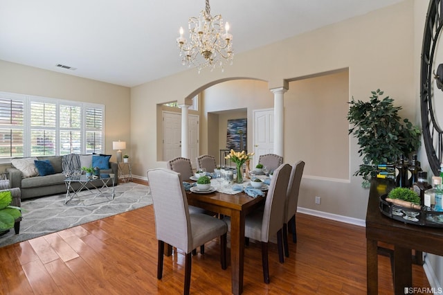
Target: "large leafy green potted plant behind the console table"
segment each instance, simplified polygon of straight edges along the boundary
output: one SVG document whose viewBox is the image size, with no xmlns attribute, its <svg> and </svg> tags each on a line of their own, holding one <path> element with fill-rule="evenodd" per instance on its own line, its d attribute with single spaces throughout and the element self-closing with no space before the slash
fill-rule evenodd
<svg viewBox="0 0 443 295">
<path fill-rule="evenodd" d="M 368 188 L 371 177 L 377 173 L 379 163 L 393 163 L 401 154 L 409 157 L 420 145 L 419 127 L 405 118 L 401 123 L 398 111 L 392 98 L 381 99 L 383 91 L 371 91 L 368 102 L 354 100 L 350 103 L 347 120 L 353 125 L 349 129 L 359 140 L 359 155 L 363 164 L 354 176 L 363 177 L 362 186 Z"/>
</svg>

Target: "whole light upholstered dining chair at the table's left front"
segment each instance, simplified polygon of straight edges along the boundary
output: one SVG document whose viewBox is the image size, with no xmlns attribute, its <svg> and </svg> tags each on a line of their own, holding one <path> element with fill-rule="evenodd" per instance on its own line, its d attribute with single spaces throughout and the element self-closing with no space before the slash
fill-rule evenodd
<svg viewBox="0 0 443 295">
<path fill-rule="evenodd" d="M 221 269 L 226 269 L 226 232 L 223 220 L 204 214 L 190 214 L 181 175 L 157 168 L 147 171 L 150 180 L 156 238 L 159 240 L 157 278 L 163 276 L 164 243 L 186 253 L 184 294 L 189 294 L 192 250 L 215 238 L 220 239 Z"/>
</svg>

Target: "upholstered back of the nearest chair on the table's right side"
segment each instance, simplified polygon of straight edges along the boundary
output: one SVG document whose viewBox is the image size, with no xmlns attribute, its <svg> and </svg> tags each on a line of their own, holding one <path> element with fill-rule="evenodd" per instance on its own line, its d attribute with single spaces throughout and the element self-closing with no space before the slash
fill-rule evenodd
<svg viewBox="0 0 443 295">
<path fill-rule="evenodd" d="M 264 204 L 262 242 L 268 242 L 269 238 L 283 227 L 284 203 L 289 175 L 291 175 L 289 164 L 282 164 L 274 170 Z"/>
</svg>

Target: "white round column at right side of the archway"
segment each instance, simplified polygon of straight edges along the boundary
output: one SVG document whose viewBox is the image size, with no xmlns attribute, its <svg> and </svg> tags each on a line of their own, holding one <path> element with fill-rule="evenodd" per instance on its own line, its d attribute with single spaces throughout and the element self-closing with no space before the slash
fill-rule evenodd
<svg viewBox="0 0 443 295">
<path fill-rule="evenodd" d="M 274 93 L 274 154 L 283 157 L 284 147 L 284 93 L 283 87 L 271 89 Z"/>
</svg>

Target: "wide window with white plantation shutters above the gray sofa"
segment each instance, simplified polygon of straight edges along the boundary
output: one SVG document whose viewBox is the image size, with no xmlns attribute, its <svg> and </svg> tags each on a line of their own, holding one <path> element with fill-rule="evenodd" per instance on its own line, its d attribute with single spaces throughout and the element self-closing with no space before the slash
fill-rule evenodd
<svg viewBox="0 0 443 295">
<path fill-rule="evenodd" d="M 104 105 L 0 92 L 0 159 L 104 152 L 104 118 Z"/>
</svg>

